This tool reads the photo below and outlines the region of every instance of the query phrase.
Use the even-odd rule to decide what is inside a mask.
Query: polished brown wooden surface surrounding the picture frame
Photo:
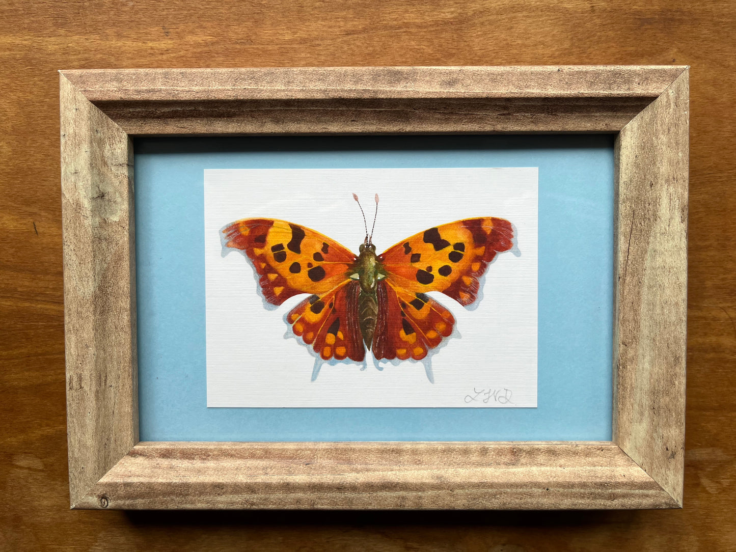
[[[1,550],[736,550],[736,2],[0,1]],[[72,512],[57,69],[689,64],[684,509]]]

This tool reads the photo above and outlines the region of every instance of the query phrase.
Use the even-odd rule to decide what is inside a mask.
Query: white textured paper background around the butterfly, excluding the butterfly
[[[378,363],[367,351],[364,363],[322,364],[284,319],[306,295],[265,308],[250,262],[222,247],[224,226],[261,217],[312,228],[357,255],[365,230],[353,192],[369,225],[381,198],[378,253],[460,219],[496,216],[514,227],[514,249],[489,265],[470,308],[429,294],[456,325],[424,361]],[[208,406],[537,406],[536,168],[206,170],[205,271]]]

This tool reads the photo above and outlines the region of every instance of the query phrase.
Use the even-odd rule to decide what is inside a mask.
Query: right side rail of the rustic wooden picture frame
[[[688,72],[623,127],[614,149],[614,442],[679,503],[687,329]]]

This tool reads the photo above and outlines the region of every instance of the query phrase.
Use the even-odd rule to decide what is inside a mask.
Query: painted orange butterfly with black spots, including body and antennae
[[[378,194],[375,201],[378,209]],[[504,219],[464,219],[376,255],[366,225],[357,256],[316,230],[277,219],[238,220],[222,235],[225,247],[250,258],[269,303],[311,294],[286,319],[317,355],[361,362],[366,348],[377,360],[425,358],[455,324],[450,311],[425,293],[442,291],[461,305],[473,303],[478,278],[497,253],[511,249],[514,231]]]

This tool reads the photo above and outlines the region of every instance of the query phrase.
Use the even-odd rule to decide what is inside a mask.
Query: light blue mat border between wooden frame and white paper
[[[539,167],[537,408],[207,408],[204,169],[453,166]],[[141,440],[611,439],[613,201],[610,135],[137,139]]]

